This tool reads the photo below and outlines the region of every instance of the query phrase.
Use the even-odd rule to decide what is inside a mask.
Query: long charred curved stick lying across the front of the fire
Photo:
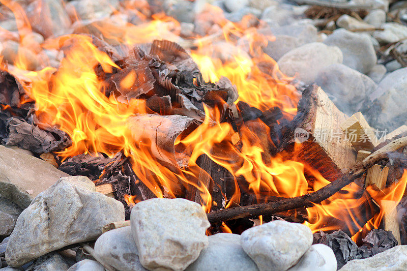
[[[386,160],[388,153],[394,152],[398,148],[407,146],[407,137],[396,139],[381,149],[376,150],[373,154],[366,157],[361,162],[357,163],[351,170],[343,174],[341,177],[327,186],[303,196],[287,198],[284,200],[268,203],[253,204],[244,207],[233,207],[218,210],[208,214],[208,220],[211,224],[221,223],[238,218],[251,218],[261,215],[272,215],[284,210],[295,209],[299,207],[311,207],[315,203],[319,203],[333,194],[341,190],[343,187],[352,183],[356,178],[360,177],[367,168],[375,163]]]

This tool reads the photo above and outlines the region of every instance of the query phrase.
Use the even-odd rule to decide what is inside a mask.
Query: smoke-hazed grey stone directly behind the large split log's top
[[[377,85],[369,78],[343,64],[333,64],[318,73],[315,83],[324,89],[335,105],[345,114],[359,111],[366,97]]]

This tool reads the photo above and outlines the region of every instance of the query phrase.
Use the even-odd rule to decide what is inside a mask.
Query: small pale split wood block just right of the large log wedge
[[[340,124],[340,128],[356,150],[372,150],[379,144],[374,129],[369,126],[361,112],[346,119]]]

